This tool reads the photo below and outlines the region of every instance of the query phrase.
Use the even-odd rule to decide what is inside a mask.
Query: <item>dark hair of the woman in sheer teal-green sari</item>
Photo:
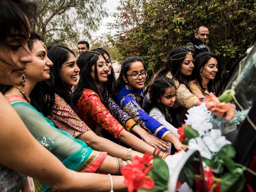
[[[30,50],[33,49],[36,40],[42,40],[42,37],[36,32],[32,32],[28,41],[28,48]],[[38,82],[30,92],[31,105],[44,114],[44,116],[50,114],[55,101],[51,72],[52,70],[50,70],[50,79]]]

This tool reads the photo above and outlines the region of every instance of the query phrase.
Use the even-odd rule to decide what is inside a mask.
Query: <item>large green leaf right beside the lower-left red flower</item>
[[[159,156],[154,156],[149,176],[154,180],[155,187],[150,190],[141,188],[139,192],[160,192],[168,189],[169,170],[167,164]]]

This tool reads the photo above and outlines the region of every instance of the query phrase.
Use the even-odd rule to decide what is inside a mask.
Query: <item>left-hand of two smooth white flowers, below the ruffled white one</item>
[[[210,150],[207,148],[201,137],[190,139],[188,142],[188,148],[191,150],[198,150],[201,156],[206,159],[212,158]]]

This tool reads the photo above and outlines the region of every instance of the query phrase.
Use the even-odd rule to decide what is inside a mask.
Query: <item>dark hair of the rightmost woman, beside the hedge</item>
[[[217,55],[212,54],[210,52],[202,52],[202,53],[198,54],[196,56],[196,58],[194,59],[194,69],[192,71],[192,78],[196,79],[198,81],[198,84],[200,85],[202,90],[206,90],[202,86],[202,77],[200,75],[200,72],[201,72],[201,70],[204,69],[204,66],[211,58],[215,58],[217,60],[218,72],[216,73],[214,80],[210,80],[208,82],[207,89],[209,92],[216,92],[216,84],[220,80],[221,73],[222,73],[222,61],[220,60],[220,58]]]

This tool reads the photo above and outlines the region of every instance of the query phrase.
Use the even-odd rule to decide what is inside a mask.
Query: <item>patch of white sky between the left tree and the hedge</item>
[[[94,39],[96,36],[100,36],[101,34],[110,32],[106,25],[108,22],[114,22],[114,18],[111,16],[111,14],[117,12],[116,8],[118,5],[119,0],[107,0],[106,3],[104,3],[103,6],[107,8],[109,16],[102,19],[102,24],[99,27],[98,31],[92,34],[92,39]],[[114,34],[114,31],[112,31],[111,34]]]

